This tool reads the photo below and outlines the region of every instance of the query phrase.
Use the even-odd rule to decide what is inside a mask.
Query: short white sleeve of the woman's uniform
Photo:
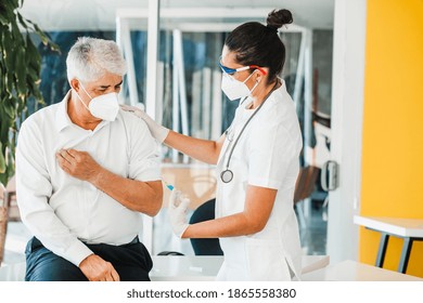
[[[297,142],[280,123],[268,123],[251,133],[248,184],[278,189],[293,161],[298,160]]]

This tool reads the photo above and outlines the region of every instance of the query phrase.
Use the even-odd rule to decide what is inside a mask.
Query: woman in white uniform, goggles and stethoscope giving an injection
[[[218,280],[291,280],[300,272],[293,196],[303,144],[294,103],[278,77],[285,61],[278,28],[292,21],[287,10],[272,11],[267,26],[245,23],[226,39],[221,89],[231,101],[241,100],[216,142],[170,131],[136,111],[158,141],[217,164],[216,219],[189,225],[189,200],[177,190],[169,216],[181,238],[220,238]]]

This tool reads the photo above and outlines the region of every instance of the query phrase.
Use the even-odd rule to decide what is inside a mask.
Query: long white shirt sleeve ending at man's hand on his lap
[[[16,148],[16,195],[28,229],[53,253],[76,266],[92,251],[73,235],[49,205],[52,195],[42,137],[34,121],[24,122]]]

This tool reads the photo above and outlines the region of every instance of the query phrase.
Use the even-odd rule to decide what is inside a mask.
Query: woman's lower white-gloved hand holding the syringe
[[[174,188],[169,198],[168,216],[174,234],[179,238],[182,238],[187,230],[187,211],[190,205],[190,199],[184,196],[180,190]]]

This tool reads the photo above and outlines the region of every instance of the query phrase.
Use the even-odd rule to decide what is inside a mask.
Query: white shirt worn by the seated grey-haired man
[[[130,242],[142,228],[142,216],[63,171],[56,152],[87,152],[103,168],[131,180],[156,181],[161,175],[158,146],[142,119],[119,110],[115,121],[103,120],[93,131],[85,130],[67,115],[69,96],[22,124],[16,192],[29,230],[46,248],[78,266],[92,253],[84,242]]]

